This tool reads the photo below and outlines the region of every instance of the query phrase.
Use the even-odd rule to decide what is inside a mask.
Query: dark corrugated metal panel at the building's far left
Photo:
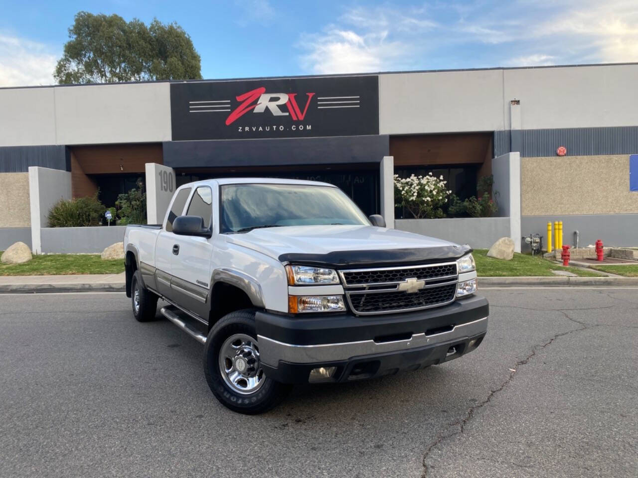
[[[24,173],[29,166],[71,171],[66,146],[10,146],[0,148],[0,173]]]

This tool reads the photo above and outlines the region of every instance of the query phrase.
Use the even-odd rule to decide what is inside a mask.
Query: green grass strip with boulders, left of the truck
[[[0,252],[1,254],[1,252]],[[103,261],[100,254],[47,254],[24,264],[0,263],[0,275],[117,274],[124,259]]]

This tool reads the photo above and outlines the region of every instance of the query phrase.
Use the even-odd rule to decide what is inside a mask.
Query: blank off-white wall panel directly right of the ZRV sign
[[[504,129],[503,71],[380,75],[379,116],[381,134]]]

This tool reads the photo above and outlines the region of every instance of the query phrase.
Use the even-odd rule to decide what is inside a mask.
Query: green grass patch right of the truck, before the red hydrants
[[[567,270],[581,277],[601,277],[602,274],[593,270],[582,270],[574,267],[563,267],[547,261],[539,256],[528,254],[514,254],[511,261],[501,261],[487,257],[487,249],[475,249],[474,259],[477,263],[477,275],[479,277],[557,277],[553,270]]]

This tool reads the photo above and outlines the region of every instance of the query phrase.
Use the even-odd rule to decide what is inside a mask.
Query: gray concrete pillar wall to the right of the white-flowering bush
[[[498,215],[510,218],[510,238],[521,252],[521,154],[503,154],[492,159],[493,191],[498,191]]]

